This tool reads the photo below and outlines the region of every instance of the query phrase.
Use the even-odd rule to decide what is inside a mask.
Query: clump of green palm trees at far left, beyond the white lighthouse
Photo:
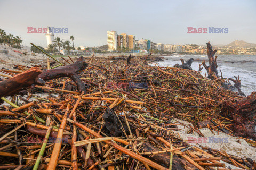
[[[0,29],[0,43],[2,45],[4,44],[13,48],[21,49],[20,44],[22,43],[22,40],[19,36],[14,37],[11,33],[7,35],[4,30]]]

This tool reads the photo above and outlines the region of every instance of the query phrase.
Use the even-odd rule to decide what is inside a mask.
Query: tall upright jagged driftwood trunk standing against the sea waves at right
[[[205,64],[205,61],[202,62],[204,68],[206,69],[207,73],[208,73],[208,77],[209,79],[218,79],[218,70],[217,70],[217,56],[214,55],[217,52],[217,49],[212,50],[212,46],[210,44],[210,42],[206,43],[207,44],[207,55],[208,55],[208,60],[209,60],[209,66],[207,66]]]

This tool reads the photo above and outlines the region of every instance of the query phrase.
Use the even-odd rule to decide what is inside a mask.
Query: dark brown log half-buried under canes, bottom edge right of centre
[[[160,149],[154,147],[150,143],[145,143],[145,148],[143,149],[143,152],[155,152],[155,151],[161,151]],[[170,165],[170,153],[161,153],[161,154],[153,154],[150,155],[149,159],[154,160],[158,164],[169,168]],[[194,165],[190,164],[189,162],[186,162],[185,160],[182,160],[176,155],[173,155],[172,160],[172,169],[197,169]]]

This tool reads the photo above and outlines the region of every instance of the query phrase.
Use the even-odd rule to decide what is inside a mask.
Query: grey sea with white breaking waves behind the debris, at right
[[[180,59],[183,58],[185,62],[190,58],[194,59],[191,67],[193,70],[199,69],[199,63],[205,61],[206,65],[208,63],[207,55],[172,55],[164,56],[163,62],[158,62],[159,66],[173,67],[175,64],[180,64]],[[238,77],[241,80],[241,90],[246,96],[250,95],[252,91],[256,91],[256,55],[219,55],[217,57],[218,64],[218,74],[223,78],[233,78]],[[203,65],[201,66],[203,67]],[[205,75],[206,70],[203,69],[201,74]],[[206,73],[207,76],[207,73]],[[231,84],[234,84],[230,81]]]

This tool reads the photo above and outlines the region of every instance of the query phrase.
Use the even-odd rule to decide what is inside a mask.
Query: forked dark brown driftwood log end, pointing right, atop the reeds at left
[[[73,80],[79,91],[84,91],[86,94],[86,87],[84,82],[78,77],[78,73],[86,69],[88,64],[84,61],[84,58],[81,56],[77,59],[77,61],[73,64],[66,65],[63,67],[59,67],[56,69],[45,70],[42,74],[39,75],[39,78],[44,81],[57,79],[61,77],[69,77]]]

